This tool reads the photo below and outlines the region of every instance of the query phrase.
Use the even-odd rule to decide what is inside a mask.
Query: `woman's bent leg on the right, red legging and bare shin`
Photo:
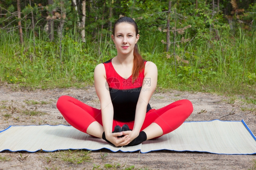
[[[177,129],[193,112],[189,100],[179,100],[157,110],[150,110],[145,118],[142,130],[147,139],[160,137]]]

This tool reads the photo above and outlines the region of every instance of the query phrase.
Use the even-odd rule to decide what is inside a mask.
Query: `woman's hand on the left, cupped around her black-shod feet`
[[[125,146],[127,144],[129,144],[129,140],[130,138],[128,137],[128,135],[125,135],[123,137],[119,137],[118,136],[122,136],[123,133],[122,132],[116,132],[116,133],[109,133],[109,134],[105,134],[106,135],[106,139],[111,142],[113,145],[115,145],[116,147],[118,146]]]

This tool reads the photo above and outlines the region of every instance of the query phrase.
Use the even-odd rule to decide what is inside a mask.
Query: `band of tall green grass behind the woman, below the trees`
[[[14,31],[1,35],[1,82],[34,88],[93,85],[94,67],[116,55],[108,34],[100,40],[86,35],[87,42],[82,43],[71,29],[62,39],[61,59],[59,40],[49,42],[44,33],[40,34],[35,47],[32,34],[23,45]],[[225,34],[219,40],[199,35],[186,45],[180,43],[177,55],[189,63],[178,61],[177,73],[173,49],[167,58],[166,45],[157,34],[141,36],[138,45],[143,58],[158,67],[158,90],[235,93],[255,98],[256,36],[254,31],[249,34],[240,30],[236,36]]]

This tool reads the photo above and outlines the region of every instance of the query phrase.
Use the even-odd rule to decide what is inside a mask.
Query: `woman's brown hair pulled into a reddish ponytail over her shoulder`
[[[119,23],[129,23],[132,24],[135,28],[136,31],[136,36],[139,34],[138,26],[136,22],[129,17],[121,17],[117,21],[115,21],[114,27],[113,27],[113,35],[115,35],[115,27]],[[132,82],[136,80],[137,77],[139,77],[140,72],[145,68],[144,65],[144,60],[141,57],[139,50],[138,50],[138,45],[135,44],[134,49],[133,49],[133,67],[132,67]]]

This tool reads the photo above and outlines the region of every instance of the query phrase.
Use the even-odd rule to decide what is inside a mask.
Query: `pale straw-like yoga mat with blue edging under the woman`
[[[102,148],[113,152],[173,150],[245,155],[256,153],[256,138],[243,120],[184,122],[169,134],[129,147],[115,147],[65,125],[10,126],[0,132],[0,152]]]

